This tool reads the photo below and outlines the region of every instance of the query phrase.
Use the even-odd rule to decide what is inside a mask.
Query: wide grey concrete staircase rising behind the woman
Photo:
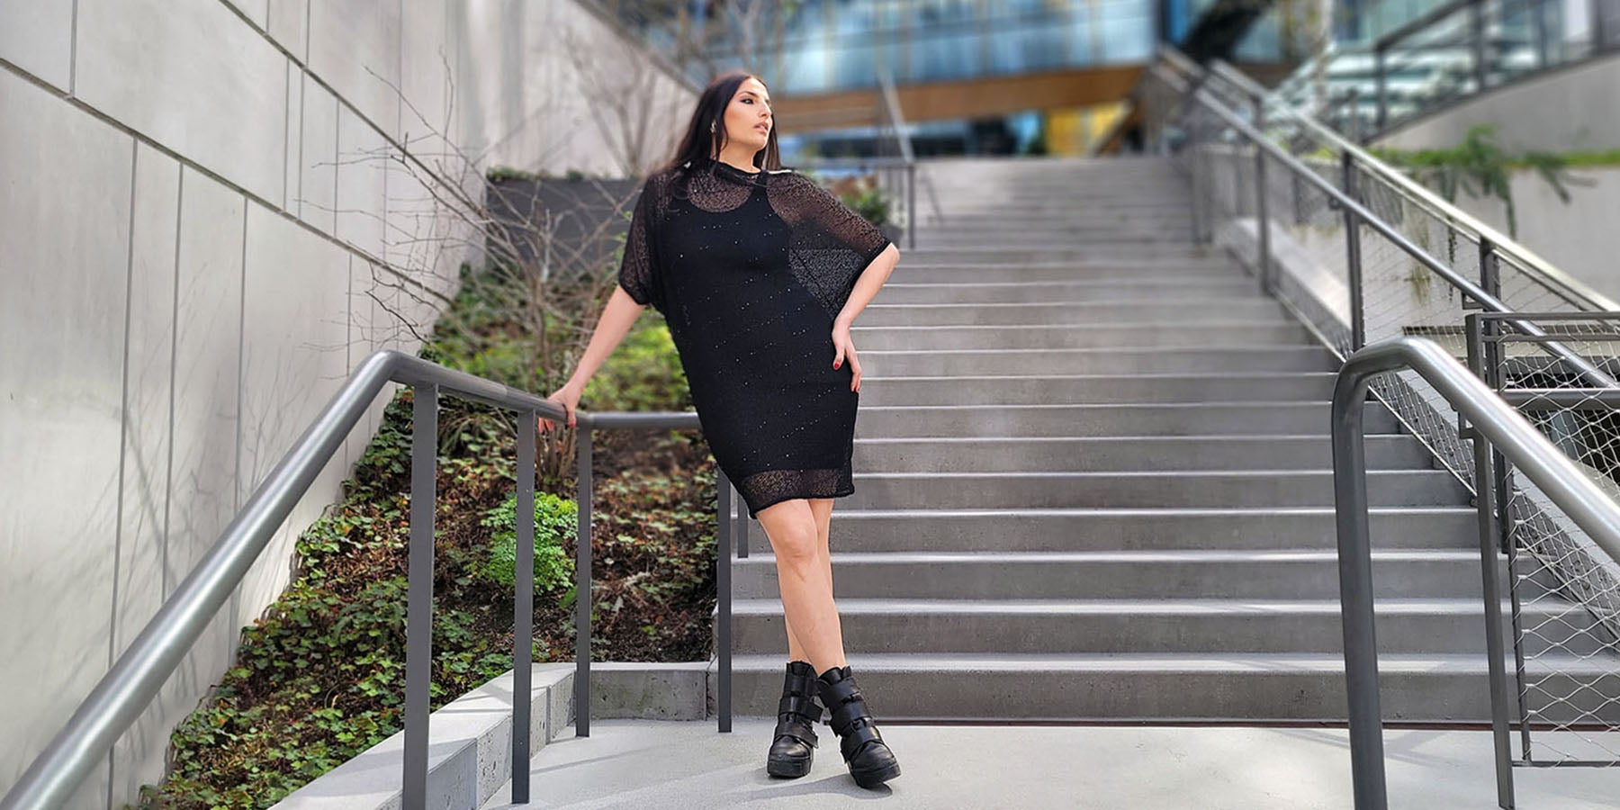
[[[1333,356],[1189,241],[1165,162],[925,172],[944,224],[854,329],[857,492],[831,526],[875,714],[1343,719]],[[1367,433],[1385,716],[1486,719],[1468,492],[1379,405]],[[734,711],[770,716],[787,648],[750,543]]]

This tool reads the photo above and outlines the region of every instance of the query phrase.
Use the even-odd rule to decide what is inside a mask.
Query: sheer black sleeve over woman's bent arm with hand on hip
[[[829,316],[891,240],[831,191],[797,172],[773,178],[771,206],[792,227],[787,262]]]

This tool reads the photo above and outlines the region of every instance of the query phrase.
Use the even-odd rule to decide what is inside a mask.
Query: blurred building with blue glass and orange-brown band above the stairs
[[[881,83],[919,156],[1092,151],[1157,47],[1243,18],[1225,55],[1275,76],[1309,47],[1317,0],[591,0],[705,83],[740,66],[773,89],[784,162],[878,154]],[[1231,8],[1228,8],[1231,6]]]

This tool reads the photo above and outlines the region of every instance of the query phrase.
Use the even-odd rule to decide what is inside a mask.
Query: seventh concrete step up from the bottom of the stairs
[[[1277,436],[1328,434],[1327,402],[1174,402],[1105,405],[872,405],[855,436]],[[1400,431],[1395,415],[1367,403],[1367,434]]]

